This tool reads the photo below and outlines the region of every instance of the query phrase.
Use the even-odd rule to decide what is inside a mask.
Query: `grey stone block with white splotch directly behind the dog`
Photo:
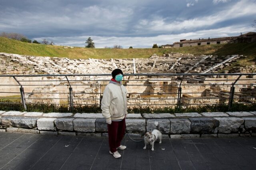
[[[146,123],[146,131],[157,129],[163,134],[170,134],[170,127],[171,122],[169,119],[150,119]]]

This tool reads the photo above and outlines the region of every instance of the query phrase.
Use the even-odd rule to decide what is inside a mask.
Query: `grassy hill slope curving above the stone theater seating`
[[[20,55],[35,55],[49,57],[67,57],[70,59],[110,59],[110,58],[148,58],[153,53],[162,55],[164,52],[192,53],[194,55],[246,55],[234,65],[254,65],[256,62],[256,43],[216,44],[181,48],[133,48],[133,49],[104,49],[104,48],[64,48],[58,45],[42,45],[20,42],[0,37],[0,52]]]

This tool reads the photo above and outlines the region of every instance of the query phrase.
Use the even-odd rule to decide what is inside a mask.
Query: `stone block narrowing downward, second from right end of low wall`
[[[244,123],[243,119],[236,117],[214,117],[214,119],[220,121],[219,133],[237,132],[238,128]]]

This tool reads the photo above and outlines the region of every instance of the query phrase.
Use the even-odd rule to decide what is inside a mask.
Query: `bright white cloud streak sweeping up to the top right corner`
[[[202,28],[204,26],[212,26],[219,22],[226,20],[250,16],[256,14],[256,4],[247,0],[237,2],[232,7],[224,9],[221,12],[212,14],[210,16],[203,16],[182,21],[169,21],[164,18],[153,18],[153,20],[144,20],[143,26],[136,26],[137,28],[144,28],[152,32],[169,32],[171,30],[191,30],[195,28]],[[145,25],[147,23],[147,25]]]

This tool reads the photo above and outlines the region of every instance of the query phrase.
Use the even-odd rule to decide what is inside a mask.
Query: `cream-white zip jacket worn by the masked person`
[[[110,80],[101,100],[102,115],[108,120],[124,119],[127,114],[127,90],[124,85]]]

